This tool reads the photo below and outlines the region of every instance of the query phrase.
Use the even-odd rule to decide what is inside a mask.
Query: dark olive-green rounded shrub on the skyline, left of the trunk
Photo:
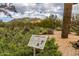
[[[57,27],[61,28],[61,23],[62,23],[61,20],[56,20],[56,19],[53,20],[48,18],[48,19],[42,20],[40,23],[37,24],[37,26],[56,29]]]

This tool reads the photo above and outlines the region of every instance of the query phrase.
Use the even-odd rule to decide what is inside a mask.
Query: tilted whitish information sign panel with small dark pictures
[[[32,35],[28,46],[38,49],[44,49],[47,38],[47,35]]]

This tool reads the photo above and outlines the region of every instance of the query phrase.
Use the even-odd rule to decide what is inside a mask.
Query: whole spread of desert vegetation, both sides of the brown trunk
[[[78,15],[72,17],[70,32],[75,32],[79,35]],[[35,19],[36,21],[39,19]],[[61,31],[62,20],[48,17],[40,22],[31,22],[29,18],[12,20],[10,22],[0,21],[0,55],[4,56],[31,56],[33,49],[28,47],[32,34],[38,35],[54,35],[54,30]],[[61,51],[58,51],[58,45],[55,38],[48,38],[45,49],[36,49],[37,56],[60,56]]]

